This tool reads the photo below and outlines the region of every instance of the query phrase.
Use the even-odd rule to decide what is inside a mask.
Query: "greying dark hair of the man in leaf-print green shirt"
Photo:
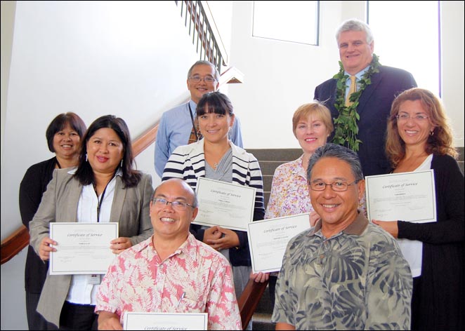
[[[360,164],[360,158],[358,158],[357,153],[347,147],[328,142],[327,144],[318,147],[312,156],[310,156],[307,168],[308,182],[310,182],[312,169],[320,158],[339,158],[339,160],[344,161],[351,166],[352,174],[356,181],[363,179],[362,165]]]

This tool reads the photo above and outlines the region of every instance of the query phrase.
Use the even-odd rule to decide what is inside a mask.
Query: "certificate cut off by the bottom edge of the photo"
[[[124,313],[124,330],[207,330],[207,313]]]

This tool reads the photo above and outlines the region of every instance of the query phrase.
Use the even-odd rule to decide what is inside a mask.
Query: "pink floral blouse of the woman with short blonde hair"
[[[302,158],[303,155],[276,168],[265,219],[313,211]]]

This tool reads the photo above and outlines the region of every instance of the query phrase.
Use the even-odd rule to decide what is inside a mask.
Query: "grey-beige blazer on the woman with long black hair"
[[[30,222],[30,244],[36,252],[49,236],[50,222],[77,222],[77,205],[82,185],[69,173],[70,169],[56,169],[42,197],[39,209]],[[110,222],[119,223],[119,236],[131,238],[136,245],[153,234],[149,204],[152,198],[152,177],[143,174],[136,187],[125,188],[116,176]],[[71,275],[47,275],[37,311],[48,322],[60,324],[60,313],[70,290]]]

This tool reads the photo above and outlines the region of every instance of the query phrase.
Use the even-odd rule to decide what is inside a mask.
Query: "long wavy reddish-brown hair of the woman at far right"
[[[410,88],[400,93],[391,106],[386,133],[386,155],[389,161],[391,161],[391,165],[395,168],[405,156],[405,142],[399,135],[396,116],[402,103],[414,100],[420,100],[421,106],[434,126],[433,134],[429,135],[426,141],[426,153],[436,155],[448,154],[457,158],[457,151],[452,146],[452,128],[445,114],[443,103],[429,90]]]

